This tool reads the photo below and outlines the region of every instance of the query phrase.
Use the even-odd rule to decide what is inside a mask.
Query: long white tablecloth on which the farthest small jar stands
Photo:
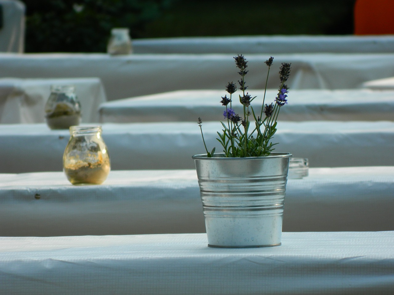
[[[238,52],[237,52],[238,53]],[[353,89],[365,81],[394,76],[394,53],[247,54],[247,84],[264,88],[267,65],[274,56],[268,87],[279,86],[279,66],[292,63],[291,89]],[[235,54],[88,53],[0,54],[0,77],[99,77],[108,100],[186,89],[223,89],[238,81]],[[59,70],[60,69],[60,70]]]

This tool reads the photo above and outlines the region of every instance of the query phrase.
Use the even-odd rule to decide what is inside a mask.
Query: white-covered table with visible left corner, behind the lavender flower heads
[[[249,90],[249,89],[248,89]],[[394,90],[394,87],[393,87]],[[249,90],[252,107],[260,113],[264,90]],[[108,101],[99,107],[100,122],[197,122],[223,120],[225,107],[220,103],[225,90],[178,90],[161,94]],[[237,90],[232,108],[242,114]],[[274,102],[278,90],[267,90],[265,103]],[[368,89],[291,90],[288,105],[281,108],[280,120],[394,121],[394,91],[382,94]]]

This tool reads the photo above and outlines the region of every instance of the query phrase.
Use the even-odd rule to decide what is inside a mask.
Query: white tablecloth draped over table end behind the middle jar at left
[[[74,85],[81,103],[82,122],[98,122],[98,108],[106,101],[99,78],[0,79],[0,124],[45,122],[50,86]]]

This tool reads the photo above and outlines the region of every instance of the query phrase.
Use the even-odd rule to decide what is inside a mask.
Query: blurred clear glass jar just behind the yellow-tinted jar
[[[50,129],[69,129],[81,122],[81,106],[71,85],[52,85],[45,104],[46,124]]]

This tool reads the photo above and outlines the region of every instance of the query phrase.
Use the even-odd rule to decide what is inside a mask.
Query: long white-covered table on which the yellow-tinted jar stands
[[[283,230],[394,230],[393,179],[394,166],[310,168],[288,179]],[[90,186],[0,174],[0,236],[193,232],[205,232],[195,170],[116,170]]]

